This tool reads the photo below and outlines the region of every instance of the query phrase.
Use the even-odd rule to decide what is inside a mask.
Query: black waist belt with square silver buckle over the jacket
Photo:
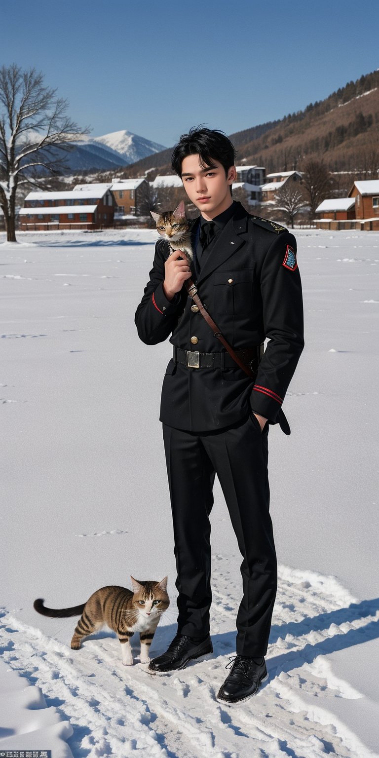
[[[252,368],[252,371],[258,371],[264,349],[265,345],[262,343],[262,345],[236,350],[236,354],[246,366]],[[196,352],[174,346],[172,359],[174,363],[181,363],[188,368],[239,368],[226,351]]]

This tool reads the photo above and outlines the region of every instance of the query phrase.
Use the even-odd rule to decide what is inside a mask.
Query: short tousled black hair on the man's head
[[[188,134],[182,134],[171,155],[171,168],[179,177],[182,175],[182,161],[187,155],[199,155],[202,168],[215,168],[214,161],[224,167],[225,176],[234,165],[236,150],[229,137],[219,129],[192,127]]]

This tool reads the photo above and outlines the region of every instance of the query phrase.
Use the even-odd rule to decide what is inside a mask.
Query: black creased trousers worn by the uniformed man
[[[243,556],[243,599],[236,618],[236,653],[267,652],[277,591],[277,559],[269,514],[268,424],[254,415],[210,434],[163,426],[171,509],[178,631],[200,637],[209,631],[211,606],[212,487],[218,475]]]

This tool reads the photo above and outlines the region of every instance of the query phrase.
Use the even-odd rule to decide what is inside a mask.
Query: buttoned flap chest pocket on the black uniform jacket
[[[252,309],[254,268],[218,271],[213,275],[213,312],[242,315]]]

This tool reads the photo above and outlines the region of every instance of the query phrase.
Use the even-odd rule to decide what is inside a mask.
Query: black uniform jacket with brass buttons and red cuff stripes
[[[199,297],[234,349],[268,345],[250,379],[236,368],[186,368],[168,364],[161,395],[161,421],[193,432],[217,431],[242,420],[253,409],[278,421],[304,346],[302,290],[296,240],[287,229],[249,215],[240,203],[218,236],[200,274],[193,280]],[[193,222],[193,246],[199,219]],[[174,301],[164,296],[164,262],[170,249],[155,245],[155,258],[136,327],[149,345],[170,342],[182,349],[222,352],[223,346],[202,315],[191,311],[185,287]],[[197,337],[197,343],[191,343]]]

